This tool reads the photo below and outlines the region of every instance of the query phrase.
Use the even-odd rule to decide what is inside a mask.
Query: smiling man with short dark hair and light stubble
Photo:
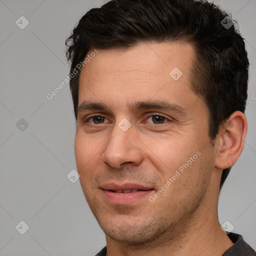
[[[217,215],[247,130],[248,59],[195,0],[111,0],[66,40],[75,158],[98,255],[256,255]]]

